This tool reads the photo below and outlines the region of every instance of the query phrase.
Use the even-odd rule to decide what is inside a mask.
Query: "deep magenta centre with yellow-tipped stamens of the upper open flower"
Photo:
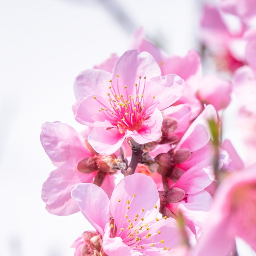
[[[119,75],[117,75],[117,78]],[[109,92],[107,93],[109,106],[105,106],[104,103],[101,103],[102,108],[99,109],[102,115],[106,116],[107,120],[110,120],[113,125],[115,125],[120,133],[126,132],[126,130],[141,130],[142,122],[148,119],[146,115],[146,105],[144,104],[144,91],[146,87],[146,76],[144,76],[144,83],[141,85],[141,76],[139,76],[138,83],[135,83],[136,94],[130,95],[127,90],[124,90],[124,93],[120,93],[119,88],[123,86],[124,89],[127,89],[127,85],[119,85],[117,79],[117,85],[113,86],[112,80],[110,80],[111,85],[108,87]],[[141,88],[143,87],[143,88]],[[117,90],[115,90],[117,88]],[[97,100],[97,97],[94,96],[94,99]],[[150,106],[153,105],[152,103]],[[148,107],[148,106],[147,106]]]

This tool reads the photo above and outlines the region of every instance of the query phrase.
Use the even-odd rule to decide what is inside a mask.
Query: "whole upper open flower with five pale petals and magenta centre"
[[[175,103],[183,88],[179,76],[161,76],[153,56],[129,50],[117,60],[112,74],[90,69],[76,78],[74,116],[94,127],[88,136],[92,147],[110,155],[129,137],[139,144],[159,139],[160,110]]]

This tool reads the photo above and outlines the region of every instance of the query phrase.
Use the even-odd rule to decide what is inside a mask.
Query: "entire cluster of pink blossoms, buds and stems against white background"
[[[241,23],[236,34],[225,12]],[[225,78],[204,76],[195,50],[168,56],[142,28],[122,56],[76,77],[72,109],[84,130],[47,122],[40,136],[56,166],[43,184],[47,211],[81,211],[95,229],[81,230],[75,256],[230,256],[236,237],[256,250],[254,18],[252,1],[205,6],[202,43]],[[221,136],[234,97],[244,160]]]

